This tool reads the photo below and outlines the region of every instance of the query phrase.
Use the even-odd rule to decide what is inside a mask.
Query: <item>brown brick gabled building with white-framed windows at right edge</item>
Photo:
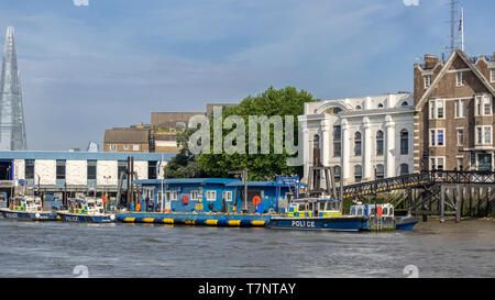
[[[415,171],[494,169],[494,60],[458,49],[415,65]]]

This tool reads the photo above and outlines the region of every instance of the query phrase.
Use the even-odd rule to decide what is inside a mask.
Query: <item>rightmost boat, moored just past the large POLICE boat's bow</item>
[[[366,222],[364,222],[362,229],[364,231],[410,231],[418,223],[418,219],[414,215],[397,219],[394,214],[394,207],[391,203],[363,204],[358,202],[355,205],[351,205],[350,215],[366,216]]]

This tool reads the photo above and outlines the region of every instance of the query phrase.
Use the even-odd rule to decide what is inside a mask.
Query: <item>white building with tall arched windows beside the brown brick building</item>
[[[413,93],[308,102],[298,120],[305,178],[318,156],[344,185],[413,173]]]

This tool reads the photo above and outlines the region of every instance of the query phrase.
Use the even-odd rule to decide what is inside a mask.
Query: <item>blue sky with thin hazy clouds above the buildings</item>
[[[465,51],[495,52],[493,0],[462,0]],[[449,0],[0,0],[14,26],[28,147],[102,146],[152,111],[238,103],[270,86],[318,99],[413,91],[449,44]]]

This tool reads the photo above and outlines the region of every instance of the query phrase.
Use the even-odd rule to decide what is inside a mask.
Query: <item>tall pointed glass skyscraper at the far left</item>
[[[0,151],[24,151],[24,110],[18,70],[13,27],[7,29],[0,78]]]

